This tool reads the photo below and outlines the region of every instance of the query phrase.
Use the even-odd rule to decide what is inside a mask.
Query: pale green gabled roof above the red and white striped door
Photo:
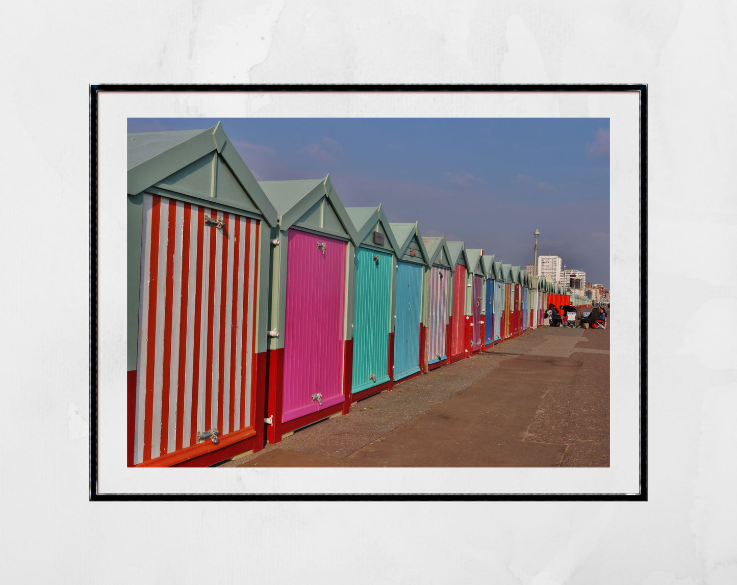
[[[213,153],[218,156],[213,157]],[[214,164],[217,167],[211,172]],[[217,181],[206,181],[212,176]],[[218,203],[248,211],[255,208],[269,225],[276,225],[276,209],[220,122],[207,130],[128,134],[128,195],[138,195],[157,185],[189,197],[214,198]]]

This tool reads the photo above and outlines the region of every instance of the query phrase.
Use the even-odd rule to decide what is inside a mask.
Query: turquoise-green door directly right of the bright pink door
[[[391,254],[368,248],[356,250],[352,393],[389,379],[393,264]]]

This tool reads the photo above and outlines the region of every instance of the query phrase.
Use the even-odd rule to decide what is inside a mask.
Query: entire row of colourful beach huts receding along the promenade
[[[128,134],[128,466],[208,466],[586,298],[464,242],[256,181],[218,124]]]

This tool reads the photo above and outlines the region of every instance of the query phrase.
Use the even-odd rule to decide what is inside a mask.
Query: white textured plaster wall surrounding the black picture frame
[[[737,301],[736,4],[38,0],[3,11],[7,581],[737,582],[735,344],[730,310],[724,323],[703,318]],[[648,83],[649,281],[693,271],[708,284],[692,316],[654,307],[649,502],[88,502],[88,84],[153,82]],[[176,115],[200,111],[177,101]],[[552,115],[596,101],[563,100]],[[125,225],[124,209],[121,198],[119,213],[101,213],[101,230]],[[99,253],[116,258],[102,238]],[[637,261],[613,253],[612,273]],[[125,314],[105,318],[113,329]],[[125,355],[107,341],[101,368]],[[626,367],[612,353],[612,373]],[[214,488],[242,482],[223,471],[211,470]],[[335,530],[338,547],[310,547]]]

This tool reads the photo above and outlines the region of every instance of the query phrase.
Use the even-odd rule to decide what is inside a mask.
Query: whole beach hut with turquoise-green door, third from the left
[[[357,233],[350,267],[354,304],[352,402],[391,388],[394,361],[394,277],[397,240],[382,206],[346,209]]]

